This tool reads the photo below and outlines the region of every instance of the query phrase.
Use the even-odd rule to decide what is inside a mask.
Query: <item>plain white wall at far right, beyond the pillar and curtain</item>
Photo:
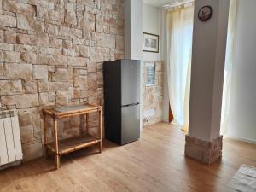
[[[256,1],[240,0],[228,136],[256,143]]]

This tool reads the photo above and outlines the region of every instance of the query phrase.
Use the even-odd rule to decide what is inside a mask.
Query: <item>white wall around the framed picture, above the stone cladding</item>
[[[143,32],[160,35],[160,28],[160,9],[144,3]],[[143,61],[160,61],[160,53],[143,52]]]

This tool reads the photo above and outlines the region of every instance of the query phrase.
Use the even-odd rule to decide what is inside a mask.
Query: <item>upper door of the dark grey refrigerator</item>
[[[140,63],[121,61],[121,105],[140,102]]]

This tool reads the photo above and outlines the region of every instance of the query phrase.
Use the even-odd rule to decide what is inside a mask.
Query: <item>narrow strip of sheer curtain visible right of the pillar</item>
[[[224,87],[221,109],[221,134],[225,134],[228,129],[230,115],[230,86],[232,77],[232,66],[234,57],[234,42],[236,36],[236,9],[237,0],[230,0],[229,26],[226,46],[226,58],[224,69]]]

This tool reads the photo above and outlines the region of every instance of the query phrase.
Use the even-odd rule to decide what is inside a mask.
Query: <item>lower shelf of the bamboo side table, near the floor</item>
[[[72,137],[61,140],[59,143],[59,153],[58,155],[67,154],[81,148],[86,148],[90,145],[101,143],[101,139],[93,137],[89,134],[79,137]],[[49,148],[53,153],[55,153],[55,143],[47,143],[46,148]]]

